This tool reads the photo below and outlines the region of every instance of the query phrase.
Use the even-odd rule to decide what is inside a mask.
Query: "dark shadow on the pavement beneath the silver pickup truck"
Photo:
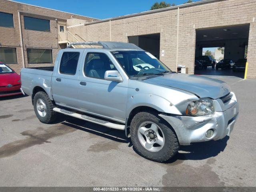
[[[130,143],[129,147],[132,146],[130,138],[127,138],[122,130],[110,129],[91,122],[78,120],[76,118],[68,118],[65,122],[62,122],[62,124],[116,142]],[[176,156],[166,163],[173,163],[176,160],[202,160],[217,156],[226,148],[228,139],[229,137],[226,136],[222,140],[210,140],[208,142],[192,143],[189,146],[180,146],[180,150]]]

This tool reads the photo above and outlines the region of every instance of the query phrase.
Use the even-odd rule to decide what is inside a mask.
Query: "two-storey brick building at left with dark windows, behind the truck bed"
[[[62,46],[58,32],[67,20],[77,24],[96,19],[0,0],[0,61],[18,73],[22,67],[53,65]]]

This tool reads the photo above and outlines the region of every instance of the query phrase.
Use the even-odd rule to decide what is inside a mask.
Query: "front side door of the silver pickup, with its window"
[[[118,70],[123,82],[104,79],[107,70]],[[110,52],[86,52],[84,65],[78,78],[79,108],[88,113],[124,122],[128,79]]]

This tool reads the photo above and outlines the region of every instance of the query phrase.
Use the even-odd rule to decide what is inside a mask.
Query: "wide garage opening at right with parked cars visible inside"
[[[250,24],[196,30],[197,75],[244,78]]]

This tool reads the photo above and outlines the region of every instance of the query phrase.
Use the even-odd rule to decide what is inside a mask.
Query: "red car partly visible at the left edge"
[[[0,97],[22,94],[20,75],[0,62]]]

